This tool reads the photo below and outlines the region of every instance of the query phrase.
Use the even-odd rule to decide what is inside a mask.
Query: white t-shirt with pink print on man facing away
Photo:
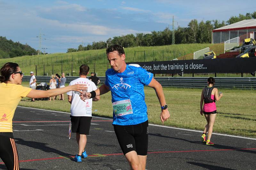
[[[86,86],[88,87],[87,92],[91,92],[97,89],[94,82],[87,78],[80,77],[76,80],[73,80],[69,83],[69,86],[74,84],[86,84]],[[84,102],[83,100],[81,100],[79,96],[80,93],[77,91],[69,91],[67,95],[72,96],[70,108],[71,116],[92,116],[92,99],[87,99]]]

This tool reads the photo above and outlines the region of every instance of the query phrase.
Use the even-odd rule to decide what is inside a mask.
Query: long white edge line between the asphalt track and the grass
[[[21,108],[26,108],[26,109],[35,109],[35,108],[30,108],[30,107],[22,107],[22,106],[18,106]],[[44,110],[44,109],[36,109],[36,110]],[[44,111],[53,111],[53,110],[44,110]],[[68,113],[68,112],[61,112],[61,111],[53,111],[53,112],[59,112],[59,113]],[[70,114],[70,113],[69,113]],[[93,116],[96,118],[101,118],[101,119],[108,119],[108,120],[113,120],[110,118],[105,118],[105,117],[97,117],[97,116]],[[175,127],[170,127],[170,126],[163,126],[163,125],[157,125],[157,124],[148,124],[151,126],[158,126],[158,127],[165,127],[165,128],[171,128],[171,129],[179,129],[179,130],[183,130],[183,131],[195,131],[195,132],[200,132],[202,133],[203,131],[197,131],[197,130],[191,130],[191,129],[182,129],[182,128],[175,128]],[[256,138],[248,138],[248,137],[242,137],[242,136],[235,136],[235,135],[227,135],[227,134],[221,134],[221,133],[212,133],[215,135],[221,135],[221,136],[228,136],[228,137],[234,137],[234,138],[244,138],[244,139],[252,139],[252,140],[256,140]]]

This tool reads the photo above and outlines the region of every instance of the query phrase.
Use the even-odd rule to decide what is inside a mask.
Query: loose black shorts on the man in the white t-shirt
[[[88,116],[70,116],[72,123],[72,132],[81,135],[89,135],[92,117]]]

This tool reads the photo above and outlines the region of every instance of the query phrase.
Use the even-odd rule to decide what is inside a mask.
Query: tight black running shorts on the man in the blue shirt
[[[148,120],[135,125],[113,124],[118,143],[124,155],[136,151],[138,155],[148,152]]]

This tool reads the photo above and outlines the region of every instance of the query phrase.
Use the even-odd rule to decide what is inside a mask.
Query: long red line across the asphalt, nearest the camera
[[[256,148],[241,148],[241,149],[212,149],[212,150],[191,150],[191,151],[159,151],[159,152],[148,152],[151,153],[179,153],[179,152],[209,152],[209,151],[237,151],[237,150],[256,150]],[[113,154],[102,154],[104,156],[111,156],[111,155],[123,155],[123,153],[113,153]],[[89,155],[91,157],[97,155]],[[71,156],[74,157],[74,156]],[[40,161],[40,160],[52,160],[52,159],[63,159],[65,157],[55,157],[55,158],[43,158],[43,159],[28,159],[28,160],[20,160],[20,162],[31,162],[31,161]],[[0,164],[4,164],[4,162],[0,162]]]

